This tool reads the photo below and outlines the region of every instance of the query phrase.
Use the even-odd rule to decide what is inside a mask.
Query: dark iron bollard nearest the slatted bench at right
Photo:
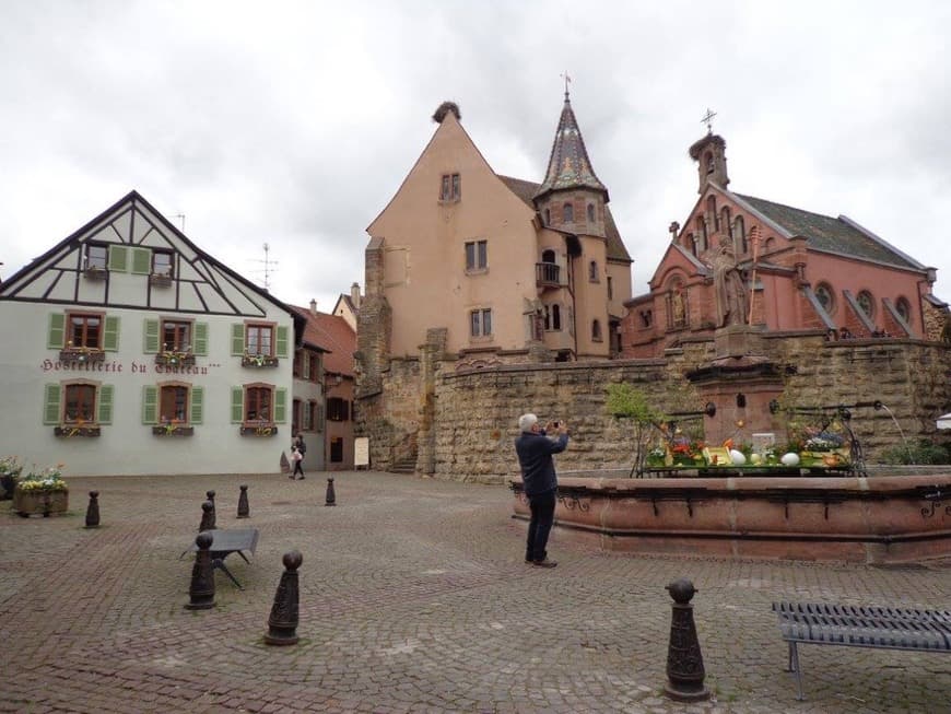
[[[673,598],[670,619],[670,645],[667,649],[667,686],[664,692],[679,702],[698,702],[709,699],[704,687],[703,654],[696,639],[691,598],[696,589],[686,578],[673,581],[665,588]]]

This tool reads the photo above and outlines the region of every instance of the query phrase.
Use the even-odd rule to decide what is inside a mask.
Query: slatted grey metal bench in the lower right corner
[[[802,670],[797,645],[842,645],[913,652],[951,652],[951,610],[773,602],[783,640],[789,643],[789,666],[799,701]]]

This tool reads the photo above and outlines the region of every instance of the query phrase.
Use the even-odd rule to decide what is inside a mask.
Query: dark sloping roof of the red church
[[[730,194],[731,191],[725,192]],[[782,203],[774,203],[762,198],[743,196],[741,194],[733,194],[733,196],[782,226],[789,234],[805,237],[809,241],[809,247],[814,250],[852,256],[899,268],[925,269],[914,258],[905,255],[844,215],[832,218],[790,206],[783,206]]]

